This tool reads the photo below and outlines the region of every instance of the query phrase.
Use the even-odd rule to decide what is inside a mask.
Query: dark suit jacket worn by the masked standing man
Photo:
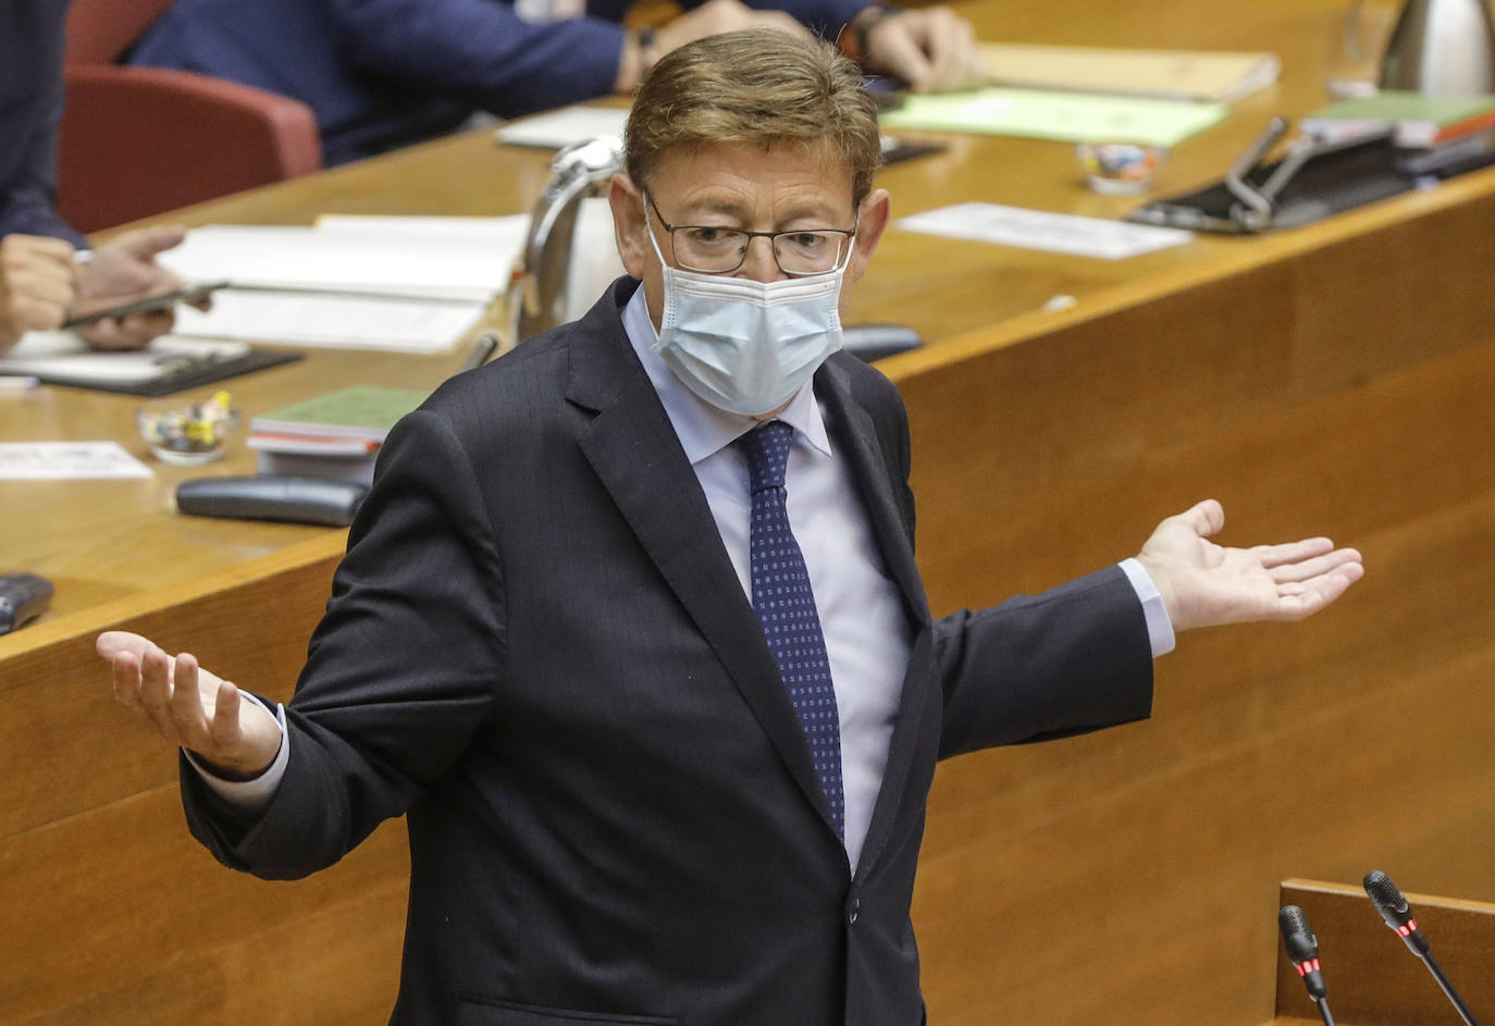
[[[931,622],[901,402],[828,360],[833,443],[916,631],[852,876],[622,331],[634,287],[390,434],[289,706],[287,776],[247,826],[184,776],[193,832],[283,878],[407,814],[396,1023],[916,1026],[909,903],[936,758],[1145,716],[1141,606],[1111,568]]]

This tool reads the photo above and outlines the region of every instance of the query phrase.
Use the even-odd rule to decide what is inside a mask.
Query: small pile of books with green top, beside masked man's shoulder
[[[260,474],[368,485],[384,435],[428,395],[372,384],[327,392],[251,417],[245,444],[257,452]]]

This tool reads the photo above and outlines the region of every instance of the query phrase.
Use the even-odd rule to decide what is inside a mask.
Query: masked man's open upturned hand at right
[[[1209,540],[1223,526],[1224,510],[1205,500],[1159,523],[1136,556],[1175,631],[1304,619],[1365,574],[1360,553],[1329,538],[1229,549]]]

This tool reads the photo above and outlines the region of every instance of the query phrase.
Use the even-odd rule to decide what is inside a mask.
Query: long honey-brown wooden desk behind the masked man
[[[1326,0],[973,7],[991,37],[1275,48],[1281,82],[1180,147],[1159,191],[1220,175],[1269,114],[1322,102]],[[184,211],[525,209],[543,154],[486,135]],[[896,208],[969,199],[1112,215],[1069,147],[952,139],[888,169]],[[1292,873],[1495,894],[1495,172],[1259,239],[1108,263],[890,230],[854,320],[933,345],[884,363],[909,405],[936,612],[1132,552],[1224,501],[1227,541],[1326,531],[1368,579],[1296,627],[1202,631],[1159,664],[1156,718],[942,767],[915,917],[940,1026],[1262,1023]],[[1078,299],[1045,314],[1052,295]],[[435,383],[447,357],[314,354],[247,404],[345,380]],[[0,402],[0,435],[133,440],[127,399]],[[253,407],[251,407],[253,410]],[[223,468],[248,467],[242,452]],[[0,1023],[377,1022],[392,1001],[402,826],[336,869],[260,884],[185,838],[175,769],[108,697],[99,630],[191,648],[286,695],[341,532],[187,520],[155,482],[0,486],[0,564],[64,586],[0,639]],[[15,896],[19,896],[15,897]],[[24,900],[22,900],[24,899]],[[226,930],[221,917],[238,917]],[[1195,966],[1180,987],[1171,966]],[[178,977],[191,987],[178,986]],[[274,981],[274,987],[266,986]]]

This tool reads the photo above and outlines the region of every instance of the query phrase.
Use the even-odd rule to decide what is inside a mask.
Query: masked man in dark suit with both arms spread
[[[280,722],[187,654],[99,649],[227,864],[299,876],[408,817],[393,1022],[916,1026],[936,761],[1139,719],[1175,628],[1305,616],[1359,555],[1221,549],[1202,503],[933,621],[903,407],[834,351],[890,209],[855,69],[692,43],[626,151],[631,277],[390,432]]]

